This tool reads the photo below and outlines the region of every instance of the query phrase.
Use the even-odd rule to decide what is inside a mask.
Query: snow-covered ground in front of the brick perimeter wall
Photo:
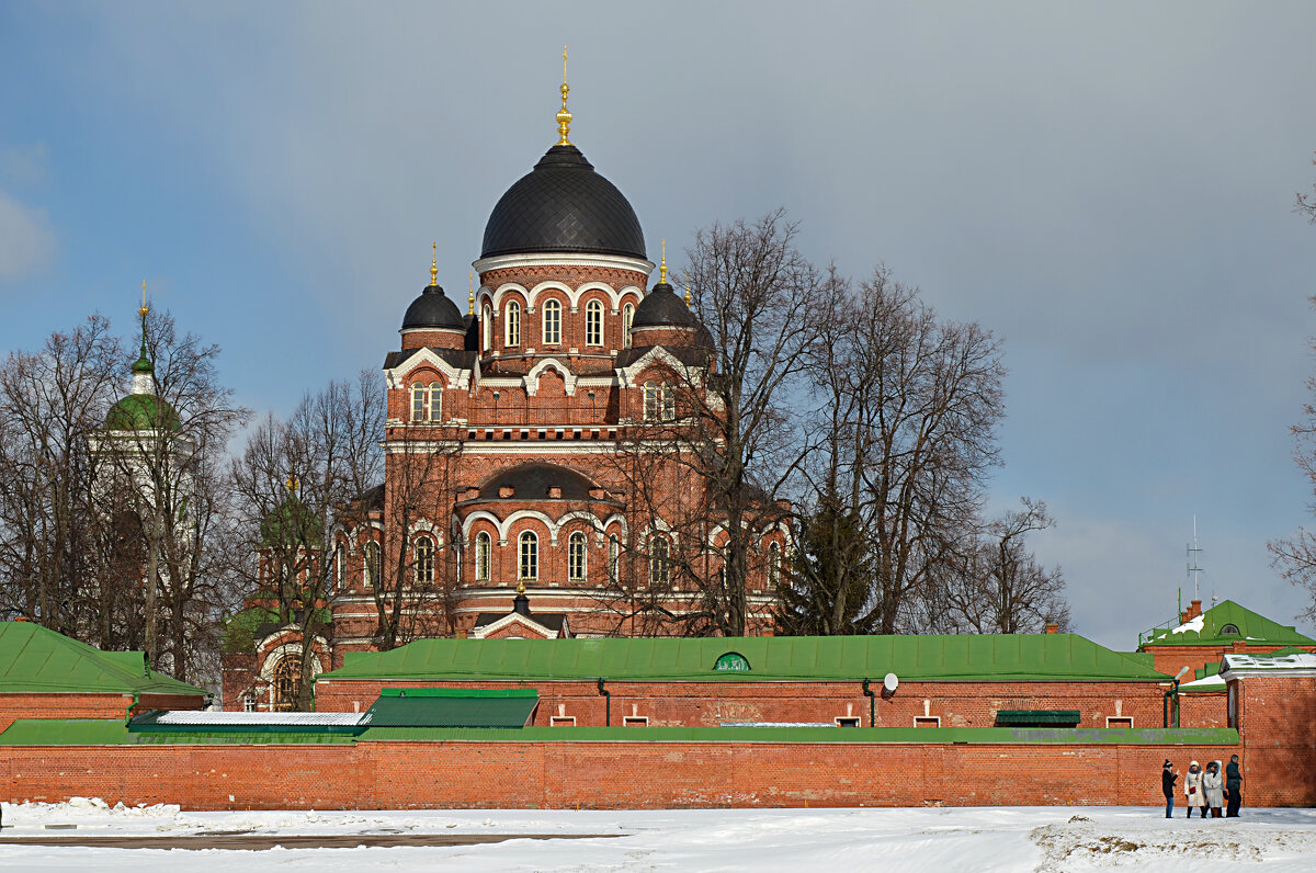
[[[9,837],[259,835],[569,835],[454,847],[267,851],[0,845],[3,870],[187,873],[313,870],[1138,870],[1316,869],[1316,810],[1245,808],[1186,820],[1178,808],[183,812],[103,802],[3,805]],[[55,827],[50,827],[55,826]],[[62,827],[61,827],[62,826]],[[68,828],[67,826],[76,826]]]

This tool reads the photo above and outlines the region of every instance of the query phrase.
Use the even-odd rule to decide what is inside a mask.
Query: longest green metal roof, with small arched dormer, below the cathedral
[[[717,670],[737,653],[747,672]],[[1074,633],[958,636],[417,640],[349,653],[317,681],[903,681],[1165,682],[1141,657]]]

